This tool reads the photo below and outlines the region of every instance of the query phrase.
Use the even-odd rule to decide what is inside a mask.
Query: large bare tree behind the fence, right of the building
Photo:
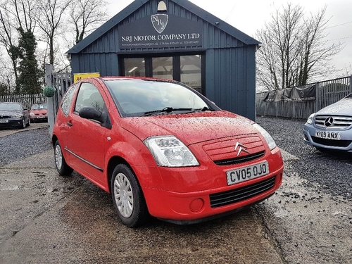
[[[258,86],[269,90],[301,86],[334,72],[329,61],[341,51],[341,44],[327,42],[325,11],[326,7],[305,18],[301,6],[287,4],[256,32],[263,43],[257,52]]]

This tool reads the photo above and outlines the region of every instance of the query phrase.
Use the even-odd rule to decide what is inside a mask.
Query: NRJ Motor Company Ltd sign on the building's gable
[[[119,48],[143,49],[202,46],[201,21],[157,13],[120,25]]]

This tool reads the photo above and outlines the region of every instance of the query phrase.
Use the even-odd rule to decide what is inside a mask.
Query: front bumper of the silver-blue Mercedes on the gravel
[[[339,139],[316,137],[317,132],[339,133]],[[320,149],[352,152],[352,129],[349,130],[324,130],[306,123],[303,126],[304,142]]]

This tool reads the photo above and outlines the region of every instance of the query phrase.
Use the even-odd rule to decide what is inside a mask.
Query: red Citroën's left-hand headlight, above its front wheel
[[[199,162],[193,153],[180,139],[174,136],[149,137],[144,140],[156,164],[163,167],[198,166]]]

